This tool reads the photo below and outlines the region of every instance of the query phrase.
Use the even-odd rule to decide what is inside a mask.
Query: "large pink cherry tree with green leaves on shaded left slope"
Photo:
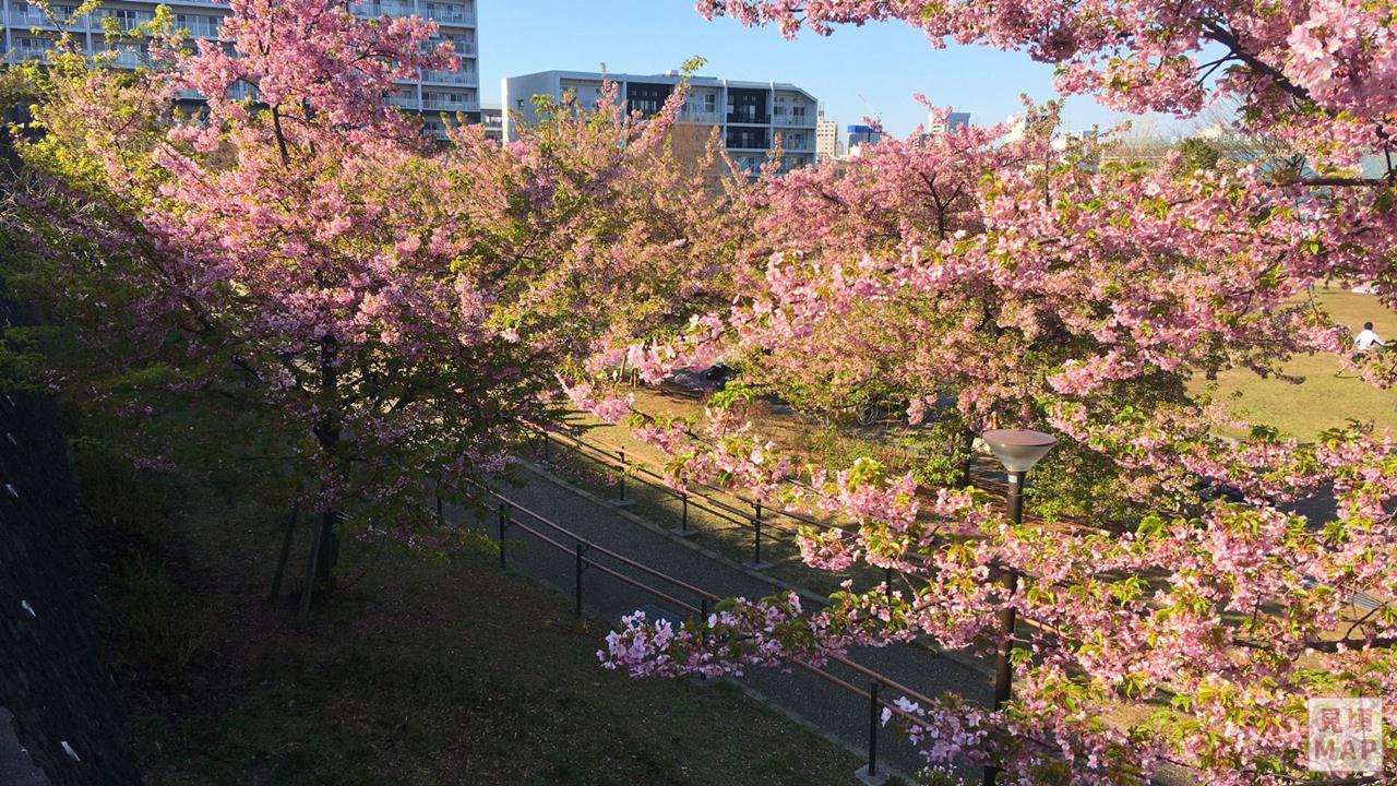
[[[746,185],[664,144],[682,95],[647,119],[610,90],[507,147],[465,124],[439,144],[387,101],[454,67],[432,24],[231,10],[231,48],[162,17],[136,73],[70,50],[31,69],[11,227],[41,250],[7,274],[78,327],[52,382],[122,418],[141,460],[182,463],[183,438],[300,490],[326,580],[337,531],[453,537],[426,501],[503,470],[559,368],[722,292]],[[193,428],[196,397],[226,420]]]

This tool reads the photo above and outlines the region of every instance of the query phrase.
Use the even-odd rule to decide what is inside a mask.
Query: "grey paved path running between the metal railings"
[[[521,476],[527,481],[525,485],[520,488],[500,487],[499,492],[520,508],[548,517],[580,538],[721,597],[757,599],[780,590],[771,580],[764,580],[740,565],[717,554],[704,552],[669,534],[665,527],[678,522],[652,522],[651,526],[647,526],[623,509],[529,464],[524,464]],[[571,551],[574,541],[531,520],[521,510],[514,510],[511,517],[553,537],[567,551],[550,547],[520,527],[511,527],[506,531],[509,565],[571,597],[576,580],[576,555]],[[467,517],[464,526],[496,537],[497,515],[472,515]],[[588,559],[595,559],[622,575],[659,589],[678,601],[700,606],[700,599],[694,594],[668,586],[659,579],[647,576],[605,555],[590,554]],[[671,620],[683,620],[692,615],[692,611],[686,611],[672,601],[657,599],[598,569],[584,571],[583,585],[584,613],[598,620],[616,622],[623,614],[630,614],[637,608],[647,610],[651,617],[658,613]],[[993,696],[990,677],[985,670],[921,648],[905,645],[882,649],[863,648],[851,652],[849,660],[930,698],[951,692],[988,706]],[[869,677],[837,663],[824,666],[824,670],[865,691],[872,683]],[[813,726],[826,737],[866,755],[870,709],[866,698],[856,696],[845,688],[798,667],[753,669],[736,681],[747,692],[756,694],[770,705]],[[884,702],[895,701],[898,695],[890,688],[882,691]],[[880,769],[891,766],[895,773],[907,778],[921,766],[919,755],[893,724],[879,730],[877,751]],[[967,771],[964,775],[971,776],[978,775],[978,772]]]

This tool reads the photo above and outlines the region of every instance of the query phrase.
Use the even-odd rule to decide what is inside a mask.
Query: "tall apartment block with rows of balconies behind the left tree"
[[[472,122],[479,120],[481,69],[476,55],[475,1],[367,0],[349,4],[355,14],[365,18],[416,14],[433,20],[439,28],[439,38],[448,41],[455,49],[461,60],[458,70],[420,71],[418,78],[398,83],[398,90],[390,98],[397,106],[427,115],[426,124],[436,130],[441,129],[440,115],[443,112],[462,112]],[[57,0],[52,10],[59,24],[82,41],[88,52],[105,49],[103,17],[112,17],[124,29],[131,29],[151,21],[156,6],[169,6],[175,13],[175,22],[187,29],[190,36],[218,41],[218,28],[224,17],[229,14],[226,4],[210,0],[161,0],[159,3],[154,0],[106,0],[96,14],[70,22],[68,15],[77,8],[77,0]],[[47,49],[53,48],[53,39],[59,32],[59,25],[25,0],[0,0],[0,25],[3,25],[3,36],[0,36],[3,52],[0,55],[3,55],[4,63],[42,57]],[[39,28],[38,32],[34,32],[34,28]],[[141,63],[142,57],[144,46],[131,46],[117,57],[117,64],[134,67]]]

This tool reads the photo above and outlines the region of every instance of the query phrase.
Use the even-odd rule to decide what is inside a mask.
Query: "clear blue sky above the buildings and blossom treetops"
[[[1052,67],[1027,56],[982,46],[932,49],[902,24],[840,28],[784,41],[773,28],[747,29],[732,20],[704,21],[692,0],[478,0],[481,98],[500,99],[500,78],[553,69],[652,74],[693,55],[705,76],[785,81],[803,87],[841,126],[880,117],[897,134],[926,119],[912,101],[923,92],[937,105],[993,123],[1020,109],[1020,94],[1052,98]],[[1090,98],[1067,103],[1071,130],[1112,124],[1123,116]],[[1137,127],[1140,123],[1137,123]],[[1154,127],[1173,127],[1160,120]]]

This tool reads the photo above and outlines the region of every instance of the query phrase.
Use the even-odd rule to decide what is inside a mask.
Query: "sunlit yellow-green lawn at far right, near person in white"
[[[1383,306],[1376,296],[1320,290],[1316,298],[1336,320],[1350,326],[1352,333],[1362,330],[1365,322],[1372,322],[1384,341],[1397,344],[1397,313]],[[1389,351],[1397,351],[1397,345]],[[1373,421],[1377,428],[1397,431],[1397,390],[1379,390],[1352,373],[1336,378],[1338,364],[1338,358],[1331,355],[1292,359],[1287,372],[1303,378],[1299,385],[1261,379],[1246,371],[1229,371],[1218,375],[1211,393],[1241,418],[1271,425],[1299,439],[1313,439],[1327,428],[1344,425],[1350,418]],[[1199,379],[1193,390],[1210,390],[1210,385]]]

